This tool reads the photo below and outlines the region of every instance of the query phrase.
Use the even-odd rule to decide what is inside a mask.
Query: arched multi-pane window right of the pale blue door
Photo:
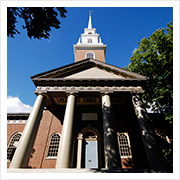
[[[118,144],[121,158],[131,158],[131,146],[129,136],[126,133],[118,134]]]

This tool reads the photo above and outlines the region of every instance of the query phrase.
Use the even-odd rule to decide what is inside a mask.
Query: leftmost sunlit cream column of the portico
[[[45,100],[45,95],[37,96],[9,168],[26,168],[28,166]]]

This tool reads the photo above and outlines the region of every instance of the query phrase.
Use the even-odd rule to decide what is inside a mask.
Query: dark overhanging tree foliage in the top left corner
[[[60,17],[66,17],[64,7],[8,7],[7,8],[7,36],[13,37],[20,34],[16,29],[17,18],[24,19],[23,29],[27,30],[27,36],[31,39],[48,39],[51,28],[60,28]]]

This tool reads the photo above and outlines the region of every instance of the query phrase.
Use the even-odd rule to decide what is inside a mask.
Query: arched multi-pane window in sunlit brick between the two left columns
[[[60,135],[58,133],[55,133],[51,136],[50,143],[49,143],[49,149],[47,156],[48,157],[56,157],[58,154],[59,149],[59,143],[60,143]]]

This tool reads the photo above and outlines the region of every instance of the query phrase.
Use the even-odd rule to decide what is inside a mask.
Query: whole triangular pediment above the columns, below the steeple
[[[146,76],[103,63],[94,59],[85,59],[62,66],[31,77],[32,80],[145,80]]]

